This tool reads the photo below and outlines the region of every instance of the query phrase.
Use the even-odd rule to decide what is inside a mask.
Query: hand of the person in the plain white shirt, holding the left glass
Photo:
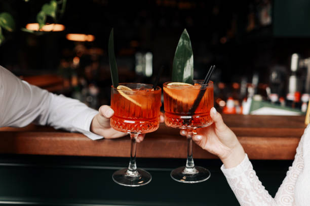
[[[90,131],[103,136],[106,139],[119,138],[128,135],[124,132],[114,130],[110,125],[110,119],[114,115],[114,111],[107,105],[103,105],[99,108],[99,113],[93,118]],[[164,122],[164,115],[161,113],[160,121]],[[141,142],[144,139],[145,134],[139,134],[136,139],[137,142]]]

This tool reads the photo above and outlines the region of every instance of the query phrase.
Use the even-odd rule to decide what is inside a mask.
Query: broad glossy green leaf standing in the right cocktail
[[[189,35],[184,29],[175,51],[172,81],[193,83],[193,55]]]

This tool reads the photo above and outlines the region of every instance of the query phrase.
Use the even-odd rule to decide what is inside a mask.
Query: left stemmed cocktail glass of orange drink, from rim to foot
[[[114,182],[124,186],[141,186],[151,181],[151,175],[136,166],[136,139],[139,134],[153,132],[159,127],[161,107],[160,87],[150,84],[120,83],[111,88],[111,108],[114,115],[110,120],[113,129],[130,134],[131,151],[129,167],[114,172]]]

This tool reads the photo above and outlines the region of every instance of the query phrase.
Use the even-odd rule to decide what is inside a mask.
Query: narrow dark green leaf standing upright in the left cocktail
[[[113,84],[114,88],[117,88],[119,85],[119,72],[118,72],[118,66],[117,66],[117,62],[115,60],[115,55],[114,55],[113,28],[110,32],[108,53],[109,53],[109,62],[110,62],[112,84]]]

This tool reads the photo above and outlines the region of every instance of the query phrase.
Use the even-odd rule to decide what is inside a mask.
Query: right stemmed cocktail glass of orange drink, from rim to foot
[[[166,82],[164,89],[165,124],[169,127],[187,130],[187,161],[185,167],[171,172],[172,179],[183,183],[202,182],[210,177],[210,171],[195,166],[192,157],[192,136],[197,128],[213,123],[210,109],[213,107],[213,82],[204,88],[202,80],[195,80],[195,85],[171,84]],[[170,85],[169,85],[170,83]],[[193,107],[200,92],[204,92],[198,107]],[[197,108],[195,110],[195,108]]]

